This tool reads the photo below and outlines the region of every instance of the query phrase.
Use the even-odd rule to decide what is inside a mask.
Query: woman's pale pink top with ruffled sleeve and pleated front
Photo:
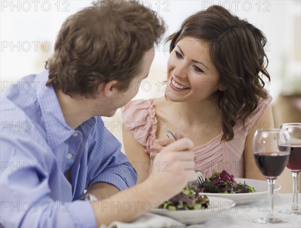
[[[200,170],[205,176],[211,176],[214,171],[225,169],[237,178],[244,177],[244,170],[251,170],[250,164],[244,162],[244,146],[248,132],[256,125],[260,128],[267,124],[259,120],[265,108],[270,104],[272,97],[260,99],[259,105],[246,119],[243,126],[238,122],[234,130],[234,138],[231,141],[221,141],[222,134],[210,141],[197,145],[195,153],[195,169]],[[155,143],[157,136],[157,118],[154,99],[133,100],[121,108],[123,123],[129,126],[129,131],[149,154],[150,147]]]

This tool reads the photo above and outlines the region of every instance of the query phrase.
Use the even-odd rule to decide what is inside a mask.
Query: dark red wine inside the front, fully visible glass
[[[270,179],[277,178],[285,168],[289,153],[286,152],[270,152],[254,154],[257,166],[260,172]]]

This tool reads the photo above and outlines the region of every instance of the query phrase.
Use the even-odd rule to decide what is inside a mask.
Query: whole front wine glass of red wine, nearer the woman
[[[258,129],[254,135],[253,154],[260,172],[267,179],[270,212],[268,216],[257,218],[258,223],[286,222],[274,216],[274,183],[285,168],[290,152],[290,137],[284,129]]]

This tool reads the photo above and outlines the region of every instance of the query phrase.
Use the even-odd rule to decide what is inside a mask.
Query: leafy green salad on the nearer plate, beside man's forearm
[[[207,208],[209,199],[206,195],[199,195],[200,189],[196,183],[186,186],[182,192],[168,201],[163,202],[158,208],[167,210],[194,210]]]

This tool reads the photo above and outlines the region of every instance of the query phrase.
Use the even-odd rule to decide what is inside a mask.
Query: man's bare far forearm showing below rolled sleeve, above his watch
[[[97,182],[93,184],[87,191],[87,194],[94,194],[98,199],[105,199],[119,192],[119,189],[112,184]]]

